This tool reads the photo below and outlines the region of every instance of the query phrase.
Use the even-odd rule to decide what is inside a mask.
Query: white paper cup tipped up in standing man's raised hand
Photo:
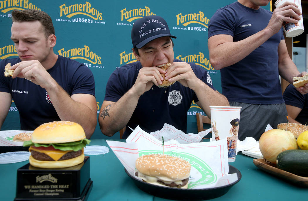
[[[275,2],[275,7],[277,8],[285,2],[295,3],[296,5],[298,5],[298,8],[302,13],[301,0],[277,0]],[[295,37],[295,36],[298,36],[298,35],[300,35],[304,32],[304,23],[303,23],[302,16],[301,16],[301,19],[298,20],[298,23],[293,24],[293,23],[289,23],[289,22],[282,22],[282,26],[283,26],[283,29],[286,33],[286,37]]]

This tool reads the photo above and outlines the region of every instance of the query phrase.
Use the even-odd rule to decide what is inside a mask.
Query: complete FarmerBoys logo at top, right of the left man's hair
[[[95,24],[105,24],[103,21],[103,13],[95,9],[90,2],[80,3],[80,4],[62,4],[60,8],[60,18],[65,16],[66,18],[56,19],[55,21],[64,22],[81,22],[81,23],[95,23]],[[86,18],[77,18],[75,15],[83,16]]]

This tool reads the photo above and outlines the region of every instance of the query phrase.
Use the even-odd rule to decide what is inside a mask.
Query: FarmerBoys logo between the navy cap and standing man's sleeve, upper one
[[[189,13],[189,14],[179,13],[176,15],[177,26],[173,27],[173,29],[206,31],[208,28],[208,24],[209,24],[209,18],[205,17],[202,11],[199,11],[199,13]]]

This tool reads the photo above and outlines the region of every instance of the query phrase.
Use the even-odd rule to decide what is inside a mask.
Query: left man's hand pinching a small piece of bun
[[[50,83],[54,81],[54,79],[38,60],[21,61],[13,65],[10,69],[15,70],[13,73],[13,78],[25,78],[32,81],[36,85],[40,85],[44,89],[51,87]]]

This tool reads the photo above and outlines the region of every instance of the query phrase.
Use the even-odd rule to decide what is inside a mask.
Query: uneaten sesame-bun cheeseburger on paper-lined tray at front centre
[[[175,156],[151,154],[136,160],[135,175],[159,186],[187,188],[191,165]]]

